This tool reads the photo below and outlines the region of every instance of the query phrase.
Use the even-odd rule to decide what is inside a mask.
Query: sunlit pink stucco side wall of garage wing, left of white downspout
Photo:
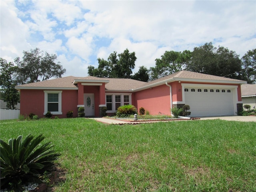
[[[149,88],[132,94],[133,105],[139,110],[143,107],[151,115],[170,115],[170,88],[166,85]]]

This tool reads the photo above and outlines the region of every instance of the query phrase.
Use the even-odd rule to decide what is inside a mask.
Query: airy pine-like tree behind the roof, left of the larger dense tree
[[[191,52],[166,51],[161,59],[156,59],[156,66],[150,68],[151,80],[181,71],[191,58]]]

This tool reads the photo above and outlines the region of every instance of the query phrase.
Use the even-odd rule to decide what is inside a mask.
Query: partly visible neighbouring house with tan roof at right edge
[[[251,106],[251,109],[256,108],[256,84],[241,85],[242,102]]]

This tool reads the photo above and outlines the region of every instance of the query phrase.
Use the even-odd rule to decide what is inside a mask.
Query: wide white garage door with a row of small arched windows
[[[234,115],[232,89],[184,88],[191,117]]]

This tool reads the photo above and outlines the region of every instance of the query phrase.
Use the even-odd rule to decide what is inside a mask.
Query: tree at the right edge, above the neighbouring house
[[[241,74],[246,78],[248,84],[256,82],[256,49],[249,50],[242,57]]]

